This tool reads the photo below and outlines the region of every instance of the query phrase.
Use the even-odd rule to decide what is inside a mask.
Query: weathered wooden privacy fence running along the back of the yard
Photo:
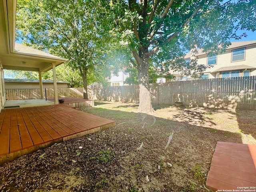
[[[153,104],[173,105],[176,101],[182,101],[187,106],[256,109],[255,76],[151,84],[150,92]],[[12,96],[13,93],[17,96]],[[32,99],[23,98],[25,93],[24,89],[6,90],[6,98]],[[32,89],[32,94],[28,95],[40,98],[39,89]],[[54,98],[54,90],[46,89],[46,96]],[[58,88],[58,97],[83,98],[83,88]],[[139,86],[88,86],[88,97],[94,100],[133,102],[139,99]]]

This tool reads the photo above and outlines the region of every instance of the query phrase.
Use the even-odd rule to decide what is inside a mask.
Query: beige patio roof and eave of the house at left
[[[0,0],[0,62],[3,69],[46,72],[68,59],[15,43],[16,0]]]

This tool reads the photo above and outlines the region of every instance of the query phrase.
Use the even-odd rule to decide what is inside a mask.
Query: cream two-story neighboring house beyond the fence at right
[[[208,56],[198,50],[198,64],[212,66],[207,68],[202,78],[228,78],[256,75],[256,40],[232,42],[226,52]],[[191,52],[185,60],[192,59]]]

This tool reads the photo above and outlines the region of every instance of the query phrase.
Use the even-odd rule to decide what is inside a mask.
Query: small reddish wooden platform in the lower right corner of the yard
[[[217,142],[206,187],[213,191],[256,190],[256,145]]]

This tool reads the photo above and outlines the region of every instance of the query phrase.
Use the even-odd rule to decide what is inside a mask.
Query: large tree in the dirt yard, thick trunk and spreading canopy
[[[102,1],[98,0],[98,3]],[[184,61],[184,52],[203,48],[208,54],[223,52],[237,30],[255,30],[255,0],[108,0],[106,19],[116,46],[130,51],[130,63],[138,70],[140,105],[150,113],[149,71],[178,70],[200,76],[205,65],[196,58]],[[102,12],[102,10],[100,10]],[[245,34],[242,34],[244,36]]]

